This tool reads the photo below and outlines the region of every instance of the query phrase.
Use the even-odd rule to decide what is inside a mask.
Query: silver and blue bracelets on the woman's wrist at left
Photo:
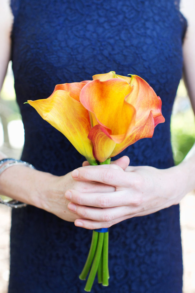
[[[2,166],[6,161],[12,161],[12,162]],[[23,166],[29,167],[31,169],[35,169],[34,166],[32,166],[30,163],[27,163],[27,162],[24,162],[21,160],[6,158],[6,159],[3,159],[0,161],[0,175],[7,168],[9,168],[11,166],[16,166],[16,165],[23,165]],[[11,207],[11,208],[18,208],[18,207],[26,207],[27,206],[26,203],[19,202],[18,200],[9,200],[9,201],[3,200],[1,198],[1,196],[0,196],[0,204],[7,205],[8,207]]]

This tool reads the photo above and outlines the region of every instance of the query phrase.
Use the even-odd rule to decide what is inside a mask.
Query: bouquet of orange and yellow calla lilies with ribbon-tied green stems
[[[161,99],[146,81],[114,71],[94,75],[93,80],[58,84],[49,98],[28,103],[90,165],[109,164],[111,157],[137,140],[152,137],[154,127],[165,121]],[[91,291],[96,273],[98,282],[108,286],[108,229],[93,231],[80,279],[85,280],[88,273],[85,291]]]

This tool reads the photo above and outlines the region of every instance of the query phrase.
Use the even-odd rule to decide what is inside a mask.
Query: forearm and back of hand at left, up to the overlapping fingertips
[[[23,165],[7,168],[0,174],[0,194],[44,209],[65,221],[74,222],[75,214],[67,208],[64,193],[69,178],[54,176]]]

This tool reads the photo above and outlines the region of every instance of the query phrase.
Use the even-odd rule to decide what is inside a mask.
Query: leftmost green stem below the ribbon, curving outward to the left
[[[93,231],[92,242],[91,242],[89,254],[88,254],[86,263],[84,265],[84,268],[83,268],[83,270],[82,270],[82,272],[81,272],[81,274],[79,276],[80,280],[85,280],[86,279],[87,274],[89,272],[89,269],[91,267],[91,264],[92,264],[92,261],[93,261],[93,258],[94,258],[94,254],[96,252],[96,247],[97,247],[97,242],[98,242],[98,234],[99,234],[98,232]]]

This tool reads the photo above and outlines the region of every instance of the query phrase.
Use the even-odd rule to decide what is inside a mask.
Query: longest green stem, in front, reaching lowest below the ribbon
[[[91,289],[92,289],[93,282],[94,282],[96,272],[97,272],[97,269],[98,269],[98,265],[99,265],[99,260],[100,260],[101,253],[102,253],[104,233],[98,232],[98,234],[99,234],[98,235],[98,243],[97,243],[96,253],[95,253],[95,256],[94,256],[94,261],[92,263],[92,267],[91,267],[91,270],[90,270],[90,273],[89,273],[89,277],[87,279],[87,283],[86,283],[85,288],[84,288],[84,290],[87,291],[87,292],[90,292]]]

